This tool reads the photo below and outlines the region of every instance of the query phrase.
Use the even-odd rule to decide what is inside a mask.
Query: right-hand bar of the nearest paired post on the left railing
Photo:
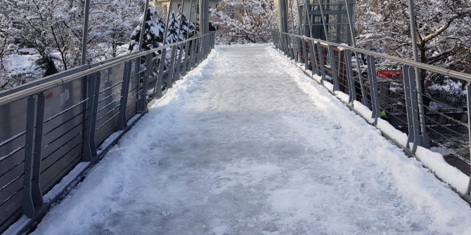
[[[42,154],[42,136],[44,127],[44,108],[46,97],[44,93],[37,95],[36,125],[34,130],[34,152],[33,152],[33,171],[32,171],[32,200],[34,208],[40,208],[44,205],[39,179],[41,177],[41,154]]]

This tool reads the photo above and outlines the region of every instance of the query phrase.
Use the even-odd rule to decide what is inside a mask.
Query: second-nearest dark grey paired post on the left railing
[[[82,161],[94,161],[96,158],[95,127],[98,111],[98,95],[100,93],[101,74],[96,72],[86,78],[88,80],[86,101],[86,119],[84,128],[84,143],[82,145]]]

